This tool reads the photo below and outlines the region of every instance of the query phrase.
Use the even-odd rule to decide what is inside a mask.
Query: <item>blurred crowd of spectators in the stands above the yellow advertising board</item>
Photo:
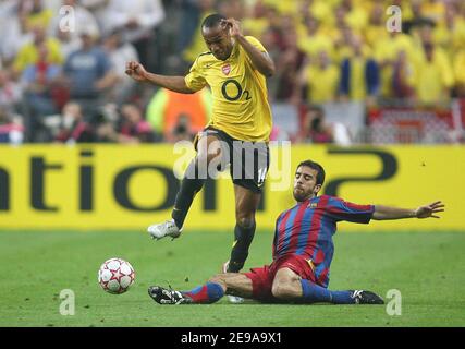
[[[295,142],[345,136],[326,123],[327,103],[465,97],[462,0],[0,0],[0,143],[192,140],[210,92],[136,84],[125,62],[184,75],[213,12],[240,20],[273,58],[270,101],[299,110],[299,132],[285,136]]]

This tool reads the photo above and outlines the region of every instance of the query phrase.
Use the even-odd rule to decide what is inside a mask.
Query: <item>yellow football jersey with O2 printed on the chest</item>
[[[255,37],[246,36],[246,39],[266,52]],[[236,140],[268,142],[272,120],[266,77],[254,68],[238,43],[225,61],[215,58],[211,52],[199,55],[185,82],[194,91],[210,86],[213,106],[208,125]]]

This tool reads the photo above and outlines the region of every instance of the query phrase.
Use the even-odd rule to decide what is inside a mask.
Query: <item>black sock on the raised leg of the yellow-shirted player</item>
[[[206,179],[201,179],[201,176],[199,176],[196,164],[197,163],[194,160],[187,167],[171,214],[171,217],[180,229],[184,225],[184,220],[195,195],[201,190],[206,181]],[[198,177],[200,177],[200,179],[198,179]]]

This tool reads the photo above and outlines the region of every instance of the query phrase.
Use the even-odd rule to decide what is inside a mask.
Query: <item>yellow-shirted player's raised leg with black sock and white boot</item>
[[[148,227],[148,232],[154,239],[164,237],[179,238],[184,225],[184,220],[191,208],[195,195],[201,190],[208,177],[208,165],[212,159],[221,156],[221,147],[218,139],[213,135],[200,137],[197,144],[198,154],[187,167],[181,182],[180,191],[174,201],[172,219],[162,224]]]

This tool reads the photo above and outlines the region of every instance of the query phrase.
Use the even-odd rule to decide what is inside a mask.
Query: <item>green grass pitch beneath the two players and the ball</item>
[[[272,234],[258,231],[246,268],[268,264]],[[283,305],[225,298],[210,305],[168,306],[149,285],[191,289],[220,270],[232,232],[188,231],[151,241],[144,232],[0,231],[0,326],[464,326],[465,233],[370,232],[334,237],[331,289],[397,289],[402,315],[386,305]],[[97,270],[107,258],[132,263],[129,292],[106,293]],[[75,294],[75,315],[60,315],[60,291]]]

